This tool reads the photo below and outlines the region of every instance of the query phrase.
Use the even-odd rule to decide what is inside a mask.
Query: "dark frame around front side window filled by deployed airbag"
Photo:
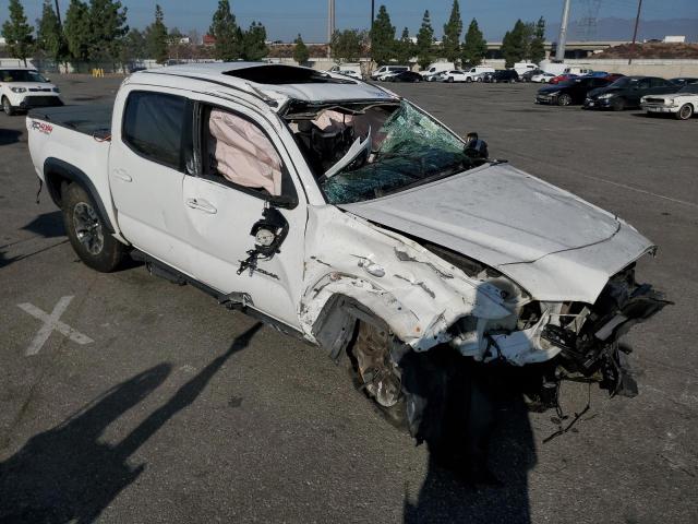
[[[286,162],[284,160],[284,156],[281,155],[281,153],[279,152],[279,148],[276,146],[276,144],[274,143],[274,140],[272,140],[272,136],[269,135],[269,133],[266,131],[266,129],[264,129],[264,127],[260,126],[260,122],[257,122],[256,120],[254,120],[253,118],[251,118],[248,115],[244,115],[240,111],[237,111],[234,109],[232,109],[229,106],[224,106],[221,104],[216,104],[216,103],[212,103],[212,102],[204,102],[204,100],[195,100],[193,103],[193,119],[192,119],[192,126],[191,126],[191,135],[192,135],[192,148],[194,152],[194,165],[195,165],[195,172],[191,174],[191,172],[185,172],[185,175],[188,176],[193,176],[196,178],[201,178],[202,180],[207,180],[208,182],[212,183],[217,183],[219,186],[224,186],[225,188],[228,189],[232,189],[232,190],[237,190],[240,191],[244,194],[249,194],[251,196],[255,196],[260,200],[263,200],[265,202],[268,202],[270,200],[274,200],[275,196],[288,196],[290,199],[292,199],[292,203],[290,205],[288,205],[288,209],[294,209],[298,206],[299,204],[299,198],[298,198],[298,190],[296,189],[296,183],[293,182],[293,177],[291,177],[291,174],[288,169],[288,167],[286,166]],[[269,144],[272,144],[272,147],[274,147],[274,151],[276,152],[277,156],[279,157],[279,160],[281,163],[281,193],[279,195],[274,195],[274,194],[268,194],[268,193],[264,193],[258,189],[254,189],[254,188],[249,188],[246,186],[241,186],[239,183],[236,182],[231,182],[230,180],[228,180],[227,178],[225,178],[222,175],[208,175],[204,172],[204,153],[206,152],[206,144],[204,143],[204,111],[205,109],[208,108],[209,110],[212,109],[219,109],[221,111],[226,111],[226,112],[230,112],[231,115],[234,115],[238,118],[241,118],[250,123],[252,123],[253,126],[255,126],[260,131],[262,131],[262,133],[264,133],[264,136],[269,141]]]

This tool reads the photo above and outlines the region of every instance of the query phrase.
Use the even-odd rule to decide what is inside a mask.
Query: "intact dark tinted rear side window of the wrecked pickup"
[[[123,115],[123,142],[149,160],[181,170],[185,107],[186,99],[180,96],[131,93]]]

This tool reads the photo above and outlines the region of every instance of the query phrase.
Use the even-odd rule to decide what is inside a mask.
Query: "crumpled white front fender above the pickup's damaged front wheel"
[[[299,319],[313,342],[318,318],[336,295],[362,305],[416,350],[448,342],[448,327],[462,317],[494,320],[512,314],[494,286],[332,205],[309,207],[305,238]]]

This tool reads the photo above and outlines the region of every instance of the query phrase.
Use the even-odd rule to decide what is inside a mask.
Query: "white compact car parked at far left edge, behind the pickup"
[[[63,105],[60,90],[31,68],[0,68],[0,102],[8,116],[33,107]]]

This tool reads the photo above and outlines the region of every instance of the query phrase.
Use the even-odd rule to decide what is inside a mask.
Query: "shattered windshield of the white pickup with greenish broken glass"
[[[297,130],[332,204],[376,199],[479,165],[458,136],[405,100],[326,109]]]

